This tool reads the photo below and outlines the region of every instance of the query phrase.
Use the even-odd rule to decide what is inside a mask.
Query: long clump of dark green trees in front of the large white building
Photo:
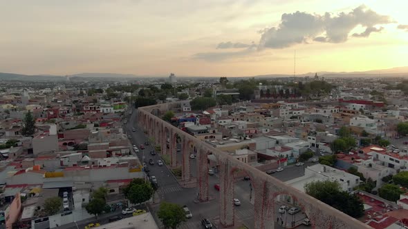
[[[364,206],[358,196],[340,190],[337,181],[312,181],[304,186],[305,192],[351,217],[364,215]]]

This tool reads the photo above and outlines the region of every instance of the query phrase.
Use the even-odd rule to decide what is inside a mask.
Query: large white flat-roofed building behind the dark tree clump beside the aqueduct
[[[355,186],[360,184],[360,177],[342,170],[337,170],[330,166],[317,164],[314,166],[308,166],[303,177],[286,181],[286,183],[293,186],[293,188],[304,192],[305,184],[312,181],[337,181],[340,183],[340,188],[342,188],[343,191],[351,192]]]

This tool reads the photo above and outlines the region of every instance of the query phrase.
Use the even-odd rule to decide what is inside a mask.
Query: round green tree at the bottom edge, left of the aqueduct
[[[163,222],[165,228],[176,229],[180,223],[186,221],[183,207],[176,203],[160,203],[157,216]]]

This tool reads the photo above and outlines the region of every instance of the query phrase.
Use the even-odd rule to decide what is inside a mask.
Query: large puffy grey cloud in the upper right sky
[[[308,41],[344,43],[349,39],[351,30],[359,25],[365,31],[355,33],[353,37],[369,37],[372,32],[383,29],[375,26],[388,23],[393,23],[389,16],[380,15],[366,6],[335,15],[328,12],[319,15],[299,11],[282,14],[279,26],[261,31],[259,49],[288,48]]]

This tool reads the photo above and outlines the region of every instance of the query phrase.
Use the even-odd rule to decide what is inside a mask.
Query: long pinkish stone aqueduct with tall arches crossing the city
[[[163,103],[155,106],[138,108],[138,125],[145,130],[149,137],[154,137],[156,144],[159,144],[163,154],[170,156],[171,165],[176,166],[176,136],[180,137],[182,144],[183,162],[182,179],[188,181],[190,177],[189,154],[191,147],[197,151],[197,188],[198,200],[209,200],[208,185],[208,163],[207,155],[214,155],[219,163],[220,179],[220,223],[224,228],[234,226],[234,170],[244,170],[251,178],[254,190],[254,228],[274,228],[277,215],[275,212],[275,197],[280,194],[290,195],[297,200],[297,203],[306,213],[313,228],[371,228],[366,224],[353,219],[348,215],[331,208],[331,206],[306,195],[299,190],[286,185],[286,183],[275,179],[265,172],[252,168],[247,164],[234,159],[230,155],[212,147],[210,144],[196,139],[170,123],[163,121],[156,116],[167,110],[177,109],[180,103]],[[156,115],[153,115],[156,113]],[[170,147],[167,149],[167,139],[170,140]]]

